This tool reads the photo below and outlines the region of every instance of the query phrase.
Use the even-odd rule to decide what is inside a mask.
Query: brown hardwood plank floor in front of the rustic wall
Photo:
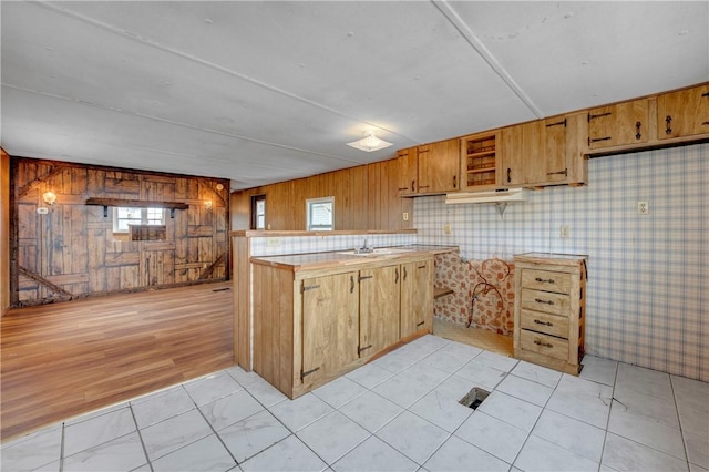
[[[234,365],[232,283],[13,309],[0,439]]]

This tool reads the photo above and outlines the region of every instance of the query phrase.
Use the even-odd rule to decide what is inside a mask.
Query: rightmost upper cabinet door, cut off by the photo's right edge
[[[657,98],[657,137],[709,133],[709,84]]]

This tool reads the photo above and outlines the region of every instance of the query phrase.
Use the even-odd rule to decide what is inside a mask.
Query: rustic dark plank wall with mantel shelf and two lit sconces
[[[227,179],[23,157],[10,163],[12,306],[228,279]],[[42,201],[47,191],[56,194],[54,205]],[[174,218],[166,212],[165,240],[133,242],[113,233],[112,208],[104,216],[104,207],[85,205],[90,197],[189,207]]]

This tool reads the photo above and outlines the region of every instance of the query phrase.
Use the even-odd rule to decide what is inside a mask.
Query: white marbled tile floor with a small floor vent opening
[[[425,336],[288,400],[238,367],[2,444],[3,471],[707,471],[709,383]],[[473,411],[472,387],[492,393]]]

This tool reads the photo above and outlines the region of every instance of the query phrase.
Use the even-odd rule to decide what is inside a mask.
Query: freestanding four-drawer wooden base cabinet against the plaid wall
[[[514,257],[514,357],[577,376],[584,357],[586,257]]]

